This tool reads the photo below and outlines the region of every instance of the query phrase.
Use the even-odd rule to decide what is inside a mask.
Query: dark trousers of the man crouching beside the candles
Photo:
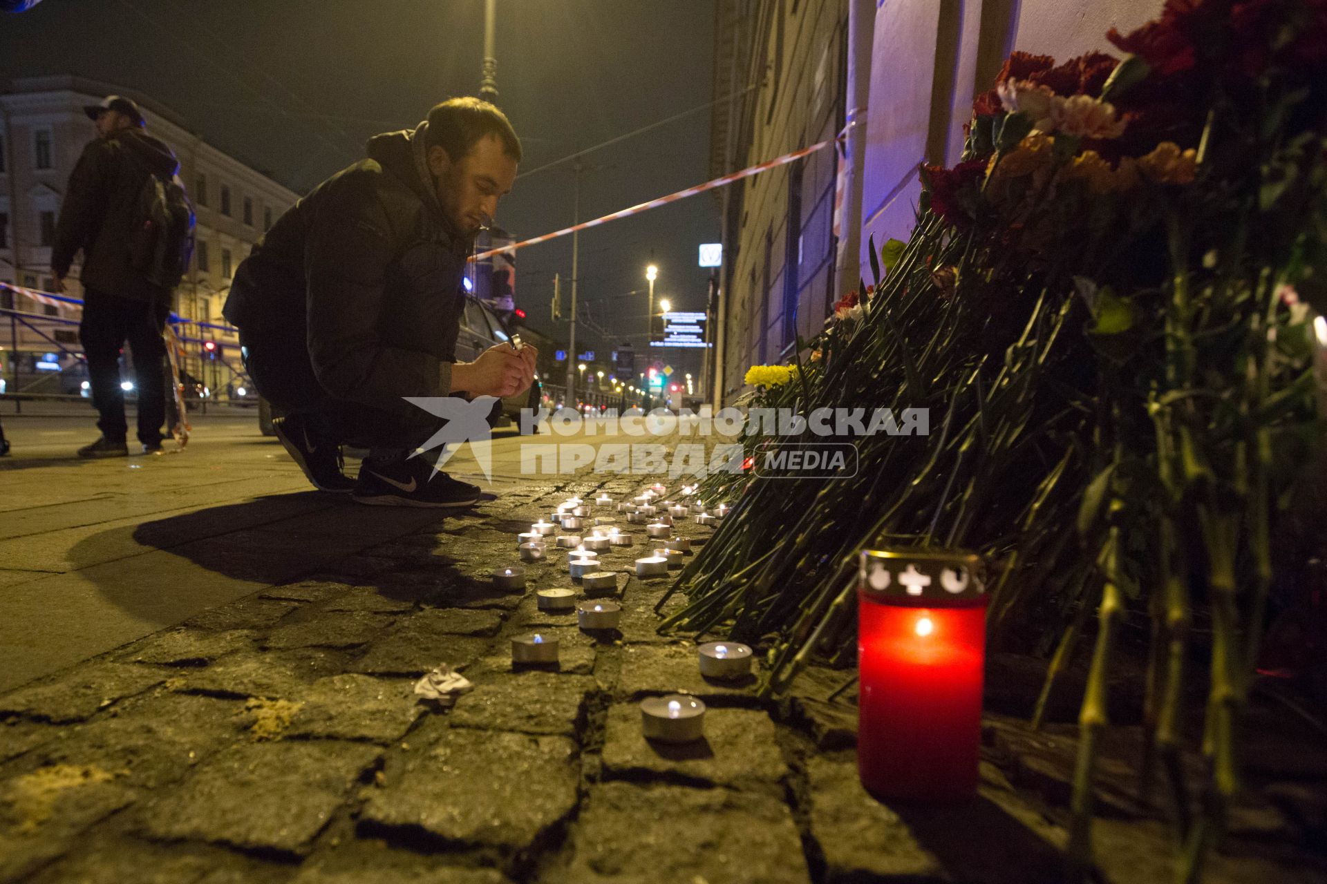
[[[303,334],[288,341],[264,339],[240,329],[240,354],[249,379],[272,410],[280,415],[300,415],[322,439],[333,444],[354,445],[378,452],[414,451],[447,421],[422,408],[372,408],[362,403],[332,396],[313,372],[313,363],[303,346]],[[488,423],[500,414],[495,404]]]

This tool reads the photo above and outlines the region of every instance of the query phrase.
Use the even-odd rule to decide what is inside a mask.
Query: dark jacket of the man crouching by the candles
[[[240,264],[224,314],[268,347],[305,350],[333,399],[386,411],[446,396],[470,241],[446,221],[425,125],[376,135],[272,225]]]

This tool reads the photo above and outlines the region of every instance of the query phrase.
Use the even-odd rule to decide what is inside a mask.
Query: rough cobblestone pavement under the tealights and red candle
[[[621,524],[636,546],[601,557],[624,571],[614,634],[537,610],[536,590],[573,586],[559,555],[525,566],[524,591],[492,587],[491,570],[518,559],[515,535],[556,504],[641,485],[508,484],[313,573],[251,571],[256,591],[0,694],[0,881],[1060,880],[1067,725],[1034,734],[993,714],[978,799],[885,807],[857,782],[853,706],[829,700],[852,673],[811,671],[774,705],[702,679],[694,643],[656,628],[670,578],[625,573],[648,543],[641,526]],[[305,562],[326,545],[320,525],[338,542],[350,508],[253,542]],[[710,531],[678,524],[697,545]],[[220,558],[248,549],[223,543]],[[212,546],[173,550],[220,567]],[[511,637],[532,631],[559,637],[557,671],[512,669]],[[450,712],[411,692],[441,663],[475,684]],[[998,685],[1026,680],[997,665]],[[674,691],[710,706],[701,744],[642,738],[638,701]],[[1112,733],[1103,877],[1169,880],[1166,830],[1128,785],[1135,730]],[[1278,769],[1263,773],[1281,791],[1239,808],[1213,880],[1327,880],[1304,848],[1327,826],[1327,751],[1270,738],[1283,744],[1265,746]]]

